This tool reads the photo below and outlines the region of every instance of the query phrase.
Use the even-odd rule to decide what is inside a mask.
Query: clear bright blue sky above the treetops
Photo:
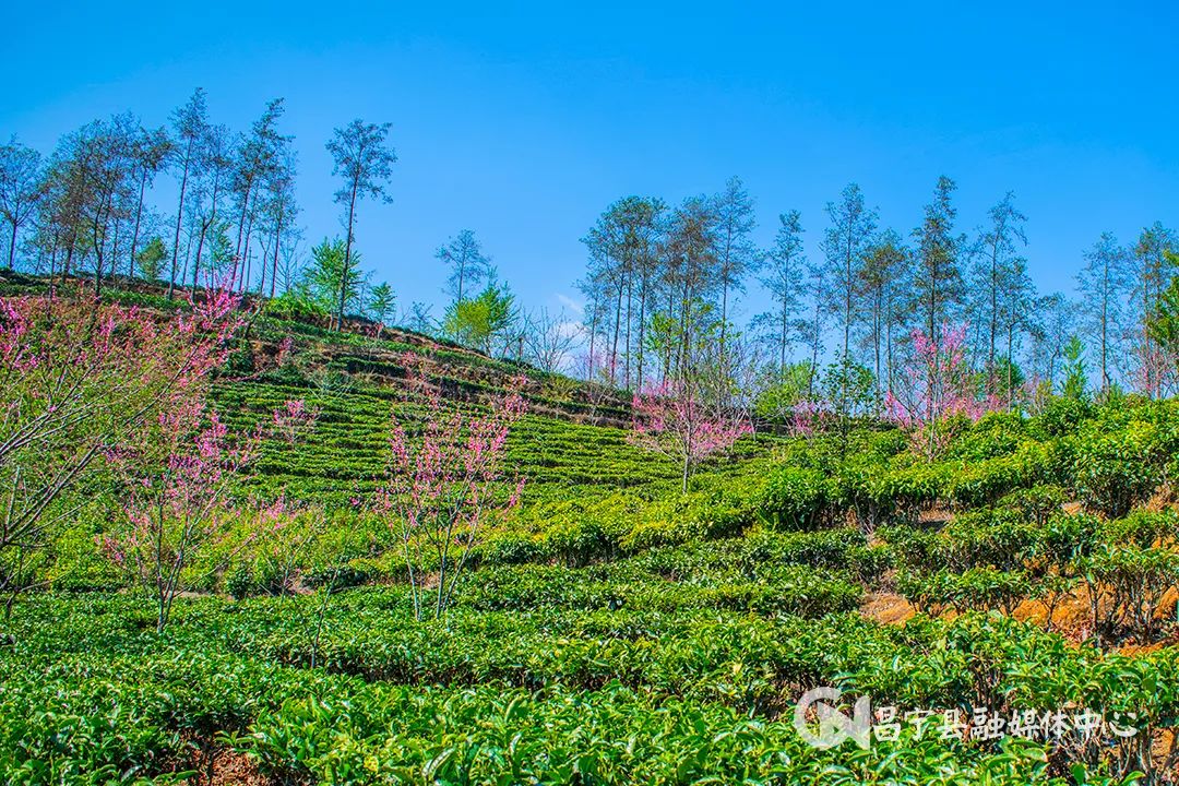
[[[437,300],[437,245],[474,229],[531,305],[574,296],[578,238],[631,194],[739,174],[758,239],[858,181],[908,233],[936,177],[973,230],[1006,191],[1046,290],[1104,230],[1179,224],[1179,4],[13,4],[0,136],[48,152],[86,120],[160,124],[197,86],[243,130],[284,97],[309,240],[338,232],[323,143],[393,124],[391,205],[357,242],[402,300]],[[166,186],[165,186],[166,189]],[[758,310],[751,296],[747,312]]]

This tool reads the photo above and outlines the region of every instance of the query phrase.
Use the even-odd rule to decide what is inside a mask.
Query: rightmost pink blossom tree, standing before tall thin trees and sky
[[[994,397],[977,395],[966,362],[966,326],[943,326],[937,342],[921,330],[913,331],[913,363],[904,394],[890,390],[884,398],[885,417],[913,434],[914,448],[936,458],[954,436],[954,421],[977,421],[997,409]]]

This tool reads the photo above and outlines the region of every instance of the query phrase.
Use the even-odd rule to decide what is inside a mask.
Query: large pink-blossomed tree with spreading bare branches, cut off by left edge
[[[237,305],[225,288],[171,316],[86,292],[0,298],[0,562],[68,519],[59,502],[97,458],[203,395]]]

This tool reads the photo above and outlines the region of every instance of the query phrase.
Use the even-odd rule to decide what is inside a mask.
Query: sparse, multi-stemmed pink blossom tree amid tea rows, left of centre
[[[443,401],[427,378],[420,356],[407,352],[408,402],[393,414],[389,463],[376,496],[409,572],[414,614],[422,619],[423,566],[437,562],[433,615],[450,605],[473,548],[489,521],[515,507],[523,480],[502,471],[508,434],[525,411],[523,377],[509,381],[487,411],[474,412]],[[411,423],[406,416],[414,415]]]

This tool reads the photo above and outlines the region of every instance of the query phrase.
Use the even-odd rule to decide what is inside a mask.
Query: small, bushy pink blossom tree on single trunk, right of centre
[[[634,444],[674,460],[683,468],[683,490],[705,458],[729,450],[752,431],[736,408],[710,405],[691,381],[665,381],[635,394],[632,402]]]

